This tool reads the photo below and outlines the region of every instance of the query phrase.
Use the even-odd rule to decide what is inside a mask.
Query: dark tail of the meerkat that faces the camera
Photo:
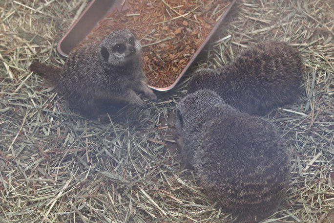
[[[61,72],[60,68],[45,65],[40,62],[33,62],[29,69],[42,76],[44,81],[50,85],[50,87],[57,86],[59,82],[59,73]]]

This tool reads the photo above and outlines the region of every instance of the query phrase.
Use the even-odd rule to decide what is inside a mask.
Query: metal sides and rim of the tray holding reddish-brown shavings
[[[97,23],[102,20],[109,12],[113,12],[115,9],[119,11],[122,10],[122,2],[124,0],[92,0],[89,5],[85,8],[80,17],[73,23],[73,25],[69,28],[63,38],[57,45],[58,52],[64,56],[68,57],[69,52],[78,45],[82,40],[84,40],[87,35],[93,30],[93,28],[97,25]],[[173,84],[166,88],[158,88],[155,86],[150,86],[150,88],[158,90],[158,91],[166,91],[172,89],[181,79],[181,77],[185,74],[187,69],[196,59],[200,51],[203,47],[208,43],[209,39],[212,37],[213,33],[217,30],[219,25],[223,22],[227,14],[229,13],[231,7],[233,6],[236,0],[232,0],[229,7],[226,9],[224,14],[220,17],[218,22],[213,26],[209,35],[205,38],[203,43],[198,47],[195,53],[190,58],[187,66],[181,71],[177,79]],[[123,7],[124,9],[124,7]]]

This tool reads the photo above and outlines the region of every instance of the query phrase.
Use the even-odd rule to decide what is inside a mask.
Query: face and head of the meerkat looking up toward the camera
[[[100,58],[113,66],[123,66],[141,54],[142,45],[128,29],[116,30],[107,35],[99,47]]]

